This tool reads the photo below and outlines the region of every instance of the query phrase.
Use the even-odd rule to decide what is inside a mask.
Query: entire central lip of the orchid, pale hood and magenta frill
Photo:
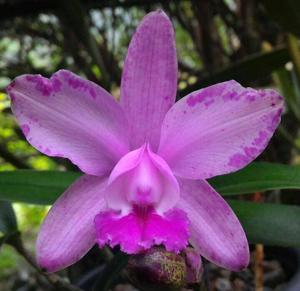
[[[189,238],[189,220],[174,207],[178,200],[176,178],[149,145],[129,152],[109,177],[109,209],[95,217],[98,245],[119,245],[128,254],[164,245],[178,253]]]

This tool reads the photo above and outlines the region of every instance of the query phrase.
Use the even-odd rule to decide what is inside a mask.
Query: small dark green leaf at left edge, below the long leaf
[[[11,204],[7,201],[0,201],[0,232],[3,236],[18,231],[17,219]]]

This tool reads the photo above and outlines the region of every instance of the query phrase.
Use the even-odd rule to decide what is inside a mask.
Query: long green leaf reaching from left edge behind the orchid
[[[0,199],[51,205],[79,176],[76,172],[58,171],[0,172]]]

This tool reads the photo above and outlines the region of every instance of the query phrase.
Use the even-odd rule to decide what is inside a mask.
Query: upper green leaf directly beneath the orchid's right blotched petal
[[[300,166],[256,162],[209,183],[222,195],[247,194],[275,189],[300,189]]]

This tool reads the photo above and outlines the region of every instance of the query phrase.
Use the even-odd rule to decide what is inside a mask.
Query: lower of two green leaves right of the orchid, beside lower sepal
[[[300,207],[233,200],[229,204],[251,243],[300,247]]]

